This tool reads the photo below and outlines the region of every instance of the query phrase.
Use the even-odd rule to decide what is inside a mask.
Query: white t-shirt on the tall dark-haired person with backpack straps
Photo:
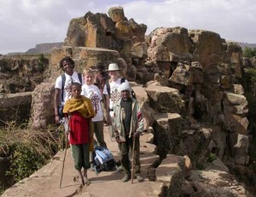
[[[73,72],[72,76],[69,76],[65,73],[66,76],[66,81],[64,84],[64,93],[63,93],[63,101],[61,98],[61,104],[65,104],[68,98],[71,98],[71,89],[70,89],[70,85],[72,82],[79,82],[81,84],[81,82],[79,81],[79,75],[77,72]],[[82,85],[84,84],[84,79],[82,77]],[[61,76],[58,76],[56,81],[55,81],[55,88],[58,89],[62,89],[62,78]]]

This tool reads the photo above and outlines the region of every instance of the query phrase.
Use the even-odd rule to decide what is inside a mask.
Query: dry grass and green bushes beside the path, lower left
[[[0,153],[10,155],[10,168],[6,175],[15,182],[29,177],[44,166],[51,156],[63,148],[64,132],[60,127],[49,127],[47,131],[33,131],[26,125],[9,123],[0,129]]]

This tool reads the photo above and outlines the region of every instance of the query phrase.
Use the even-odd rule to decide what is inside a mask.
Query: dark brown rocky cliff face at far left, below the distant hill
[[[0,57],[0,93],[32,92],[47,80],[49,59],[44,56]]]

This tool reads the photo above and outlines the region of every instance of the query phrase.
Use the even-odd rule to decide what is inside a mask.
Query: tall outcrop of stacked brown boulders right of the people
[[[179,142],[178,151],[173,152],[168,142],[166,146],[164,145],[166,148],[163,148],[168,150],[164,152],[189,155],[195,167],[195,160],[201,160],[200,158],[212,151],[207,150],[212,140],[212,129],[206,127],[207,130],[205,130],[202,126],[192,127],[193,119],[195,119],[195,121],[217,125],[220,128],[219,131],[223,129],[228,132],[228,135],[222,135],[222,132],[217,135],[218,138],[222,138],[222,142],[226,142],[225,147],[231,149],[230,154],[227,154],[227,151],[225,153],[233,163],[241,162],[234,157],[235,152],[243,152],[244,156],[240,155],[241,158],[247,158],[247,151],[243,151],[244,148],[241,148],[241,145],[237,148],[237,144],[241,144],[237,141],[237,137],[240,134],[246,136],[248,127],[247,99],[242,95],[241,85],[234,84],[237,79],[241,78],[241,48],[235,43],[225,42],[218,33],[201,30],[188,31],[183,27],[157,28],[150,34],[149,41],[148,62],[150,64],[146,64],[158,66],[162,71],[160,76],[166,77],[169,81],[166,86],[176,88],[178,93],[183,95],[185,114],[190,120],[184,123],[183,127],[177,130],[179,134],[175,135]],[[157,99],[154,99],[148,92],[150,107],[155,110],[155,106],[166,104],[172,106],[170,107],[172,113],[181,114],[181,110],[177,109],[180,99],[175,98],[179,104],[168,103],[172,99],[167,99],[165,93],[161,93],[161,88],[163,87],[156,88]],[[155,124],[155,130],[160,127],[157,125],[159,124]],[[206,135],[203,134],[204,131],[207,131]],[[166,139],[169,138],[173,139],[173,132],[167,133]],[[192,144],[191,142],[195,141],[198,142],[197,147],[190,147],[190,149],[186,147],[185,144]],[[203,142],[201,145],[205,153],[196,150],[201,147],[199,142]],[[247,140],[242,146],[247,147]],[[226,148],[217,145],[215,149],[222,149],[221,155],[218,156],[223,158]],[[241,149],[241,151],[236,149]]]

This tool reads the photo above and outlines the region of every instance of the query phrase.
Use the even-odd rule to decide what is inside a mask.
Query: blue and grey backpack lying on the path
[[[102,146],[96,146],[94,149],[93,165],[96,173],[102,171],[111,171],[114,167],[116,167],[113,154],[109,149]]]

